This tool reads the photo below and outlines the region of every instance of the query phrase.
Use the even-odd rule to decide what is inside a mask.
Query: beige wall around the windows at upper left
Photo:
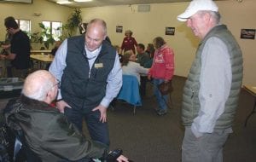
[[[0,40],[4,40],[5,26],[4,18],[14,16],[15,19],[24,19],[32,21],[32,32],[39,32],[38,23],[42,20],[66,22],[68,15],[73,9],[62,7],[55,3],[49,3],[46,0],[33,0],[32,4],[27,3],[0,3]],[[33,15],[40,13],[40,16]],[[32,44],[33,49],[41,47],[40,44]]]

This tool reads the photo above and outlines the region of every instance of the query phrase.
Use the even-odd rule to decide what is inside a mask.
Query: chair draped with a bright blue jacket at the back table
[[[136,107],[142,106],[142,99],[139,92],[139,83],[133,75],[123,75],[123,85],[117,96],[117,100],[124,100],[133,105],[133,114],[136,113]]]

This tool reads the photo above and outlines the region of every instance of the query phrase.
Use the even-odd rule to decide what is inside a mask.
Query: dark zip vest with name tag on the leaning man
[[[91,70],[85,55],[84,35],[67,39],[67,67],[61,78],[61,95],[71,107],[90,110],[98,106],[106,94],[116,51],[103,41]]]

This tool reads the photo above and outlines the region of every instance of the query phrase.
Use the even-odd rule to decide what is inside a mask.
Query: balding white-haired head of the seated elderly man
[[[38,70],[26,77],[21,93],[34,100],[44,101],[54,84],[55,78],[50,72]]]

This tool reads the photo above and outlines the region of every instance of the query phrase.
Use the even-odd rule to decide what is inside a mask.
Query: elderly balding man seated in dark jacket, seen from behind
[[[59,82],[48,71],[31,73],[21,95],[5,108],[6,123],[22,130],[28,148],[41,161],[90,161],[104,159],[107,146],[85,139],[63,113],[50,104],[55,100]],[[128,162],[123,155],[117,161]]]

